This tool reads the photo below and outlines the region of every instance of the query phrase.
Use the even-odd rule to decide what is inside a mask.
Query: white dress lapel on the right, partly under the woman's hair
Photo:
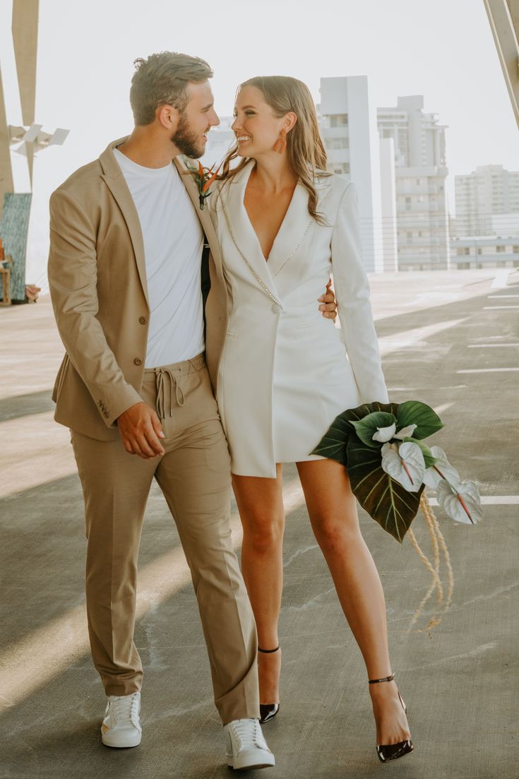
[[[326,182],[326,179],[324,181]],[[318,184],[316,191],[317,210],[321,211],[330,192],[330,185]],[[294,195],[274,239],[272,249],[270,249],[268,264],[273,277],[276,277],[288,265],[315,224],[316,220],[310,216],[308,211],[308,191],[299,183],[294,190]]]

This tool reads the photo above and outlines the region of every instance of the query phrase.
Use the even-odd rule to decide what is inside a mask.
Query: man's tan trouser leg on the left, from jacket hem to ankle
[[[90,648],[107,696],[141,687],[133,643],[137,556],[157,460],[129,455],[119,440],[72,432],[87,520],[87,615]]]

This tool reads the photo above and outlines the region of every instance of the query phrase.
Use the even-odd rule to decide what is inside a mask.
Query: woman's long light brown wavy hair
[[[297,116],[298,121],[287,133],[288,159],[299,181],[308,190],[309,213],[320,224],[327,224],[316,210],[317,192],[314,184],[318,176],[330,174],[327,173],[327,153],[308,86],[291,76],[255,76],[238,86],[237,96],[244,86],[256,86],[278,118],[289,111]],[[232,160],[238,157],[237,151],[238,144],[235,144],[226,154],[221,175],[218,176],[221,181],[230,181],[249,163],[250,157],[244,157],[236,167],[231,168]]]

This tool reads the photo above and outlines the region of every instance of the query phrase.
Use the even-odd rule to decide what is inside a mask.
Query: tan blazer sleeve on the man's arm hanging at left
[[[48,280],[58,331],[107,427],[142,398],[129,384],[97,319],[96,232],[69,192],[51,195]]]

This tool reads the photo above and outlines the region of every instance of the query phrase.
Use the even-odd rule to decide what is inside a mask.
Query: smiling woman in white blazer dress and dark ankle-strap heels
[[[261,647],[262,721],[279,709],[282,463],[295,462],[313,532],[365,660],[377,753],[392,760],[413,747],[391,674],[380,578],[344,467],[309,454],[345,408],[387,402],[355,190],[324,172],[312,97],[296,79],[243,83],[232,129],[237,145],[211,197],[231,305],[217,400]],[[235,157],[242,161],[231,169]],[[330,272],[344,340],[315,308]]]

